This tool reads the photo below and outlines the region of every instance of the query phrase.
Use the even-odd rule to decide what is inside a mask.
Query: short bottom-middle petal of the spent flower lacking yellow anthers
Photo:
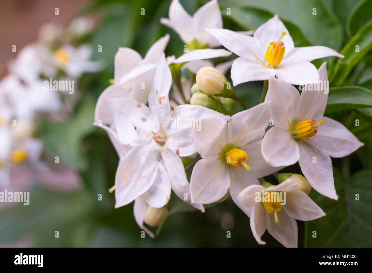
[[[146,203],[153,208],[164,207],[170,198],[170,181],[164,166],[159,163],[158,174],[154,180],[153,185],[144,193]]]

